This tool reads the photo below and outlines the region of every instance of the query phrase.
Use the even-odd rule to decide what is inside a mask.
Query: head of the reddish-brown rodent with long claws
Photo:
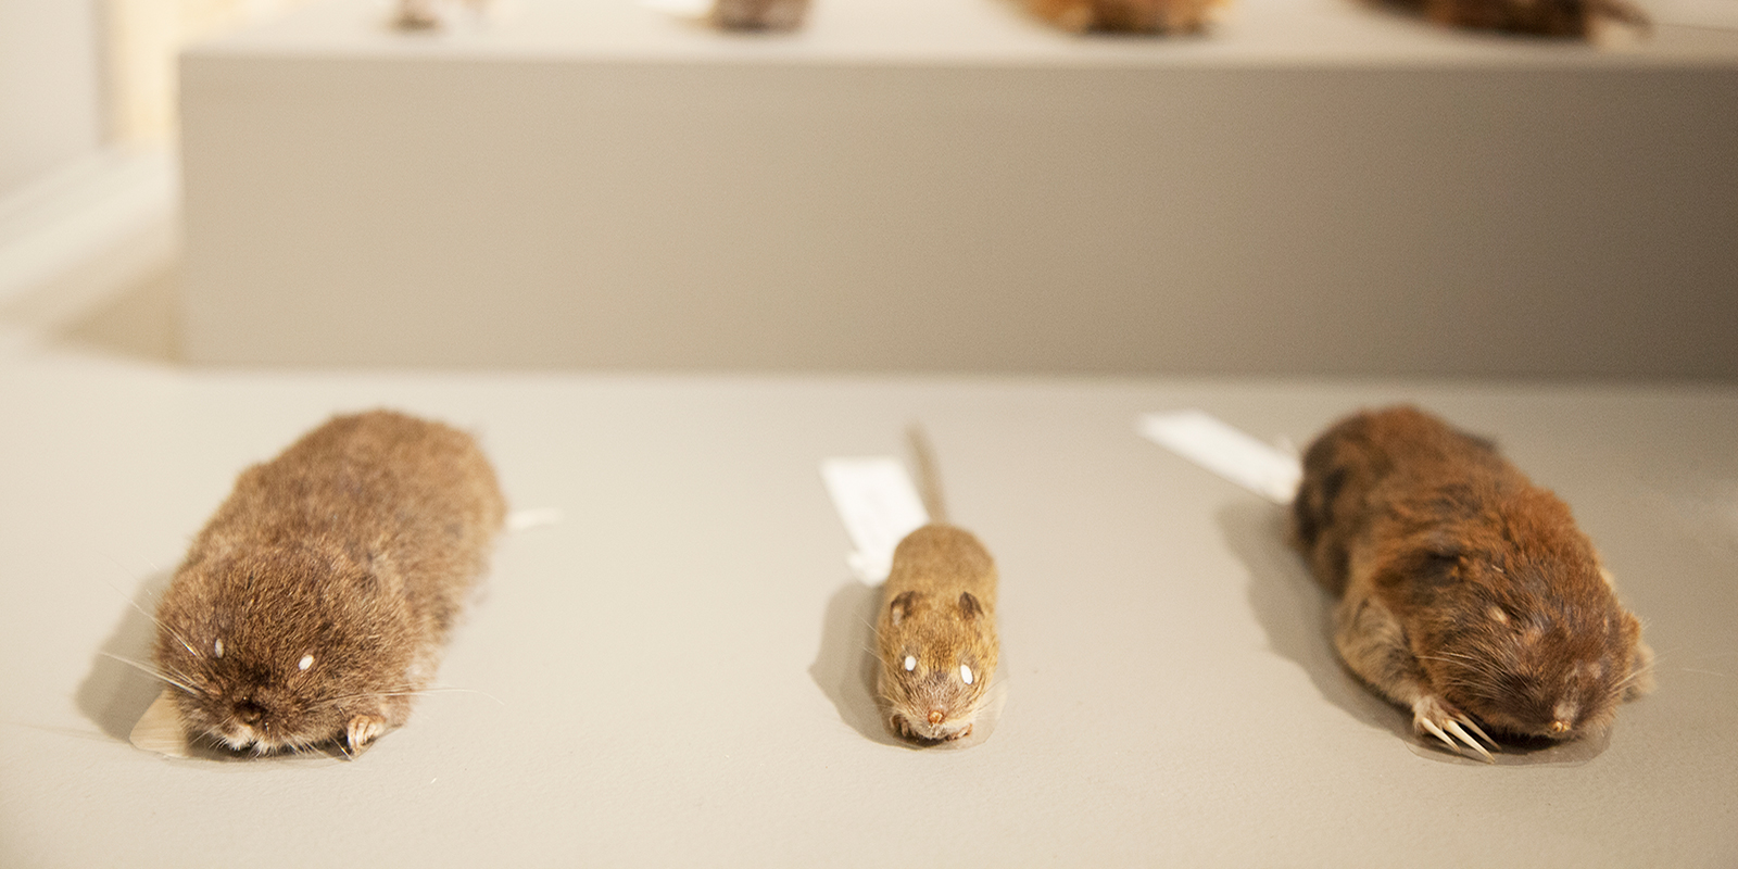
[[[1486,565],[1486,568],[1489,568]],[[1578,739],[1608,726],[1648,680],[1641,622],[1609,586],[1576,577],[1580,593],[1542,593],[1543,572],[1510,565],[1517,580],[1481,596],[1423,664],[1444,699],[1514,735]],[[1559,577],[1561,580],[1561,577]]]

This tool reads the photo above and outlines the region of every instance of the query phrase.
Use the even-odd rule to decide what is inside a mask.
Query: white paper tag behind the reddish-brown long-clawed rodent
[[[1147,440],[1274,504],[1290,504],[1304,480],[1304,464],[1297,455],[1269,447],[1203,410],[1142,414],[1135,428]]]

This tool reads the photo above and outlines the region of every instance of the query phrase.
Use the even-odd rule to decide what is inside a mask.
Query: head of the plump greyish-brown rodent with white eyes
[[[410,664],[388,582],[308,547],[182,567],[155,652],[186,728],[261,754],[342,735],[349,709],[401,690],[391,674]]]

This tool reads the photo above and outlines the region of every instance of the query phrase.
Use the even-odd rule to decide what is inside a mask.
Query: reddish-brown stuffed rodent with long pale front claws
[[[1568,504],[1484,440],[1411,407],[1361,412],[1304,455],[1293,535],[1342,600],[1347,667],[1413,726],[1489,753],[1483,723],[1575,739],[1651,688],[1653,652]]]

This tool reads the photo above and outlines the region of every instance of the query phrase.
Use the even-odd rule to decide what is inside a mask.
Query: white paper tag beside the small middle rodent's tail
[[[845,563],[871,586],[885,580],[899,541],[930,521],[905,466],[886,455],[824,459],[820,480],[855,547]]]

